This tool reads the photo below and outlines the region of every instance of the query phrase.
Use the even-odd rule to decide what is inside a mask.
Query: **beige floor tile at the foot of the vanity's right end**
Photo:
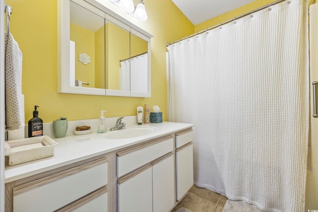
[[[196,195],[192,192],[189,192],[187,196],[175,207],[178,208],[187,208],[192,212],[214,212],[216,207],[215,203],[212,203],[199,195]]]

